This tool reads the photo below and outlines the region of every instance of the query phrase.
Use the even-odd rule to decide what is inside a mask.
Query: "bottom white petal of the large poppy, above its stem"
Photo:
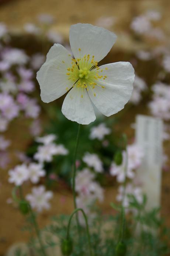
[[[81,98],[83,95],[83,98]],[[89,95],[85,89],[74,86],[62,105],[62,113],[66,118],[79,124],[90,124],[96,119]]]

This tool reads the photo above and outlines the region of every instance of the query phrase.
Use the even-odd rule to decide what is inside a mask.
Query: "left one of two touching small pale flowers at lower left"
[[[16,186],[22,185],[24,181],[29,179],[29,171],[25,164],[15,166],[8,174],[10,175],[8,181],[14,183]]]

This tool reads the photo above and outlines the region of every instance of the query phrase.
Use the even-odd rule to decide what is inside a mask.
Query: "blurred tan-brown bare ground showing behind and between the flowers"
[[[142,13],[147,9],[156,9],[163,12],[163,26],[169,29],[169,0],[18,0],[9,1],[0,6],[0,20],[8,24],[11,29],[22,27],[26,22],[36,22],[36,17],[41,13],[50,13],[56,17],[54,28],[61,31],[65,36],[68,35],[70,24],[77,22],[92,23],[101,16],[115,16],[121,21],[119,26],[115,26],[115,32],[121,27],[126,27],[126,21],[135,14]],[[119,45],[120,47],[120,45]],[[130,47],[131,44],[122,47]],[[143,114],[145,110],[141,106],[132,108],[128,119],[119,124],[122,131],[126,132],[129,138],[133,137],[133,130],[130,124],[134,122],[135,114]],[[22,131],[22,132],[21,132]],[[18,135],[19,133],[19,135]],[[13,149],[24,151],[30,142],[27,135],[27,122],[18,120],[10,125],[6,137],[13,141],[11,147],[11,167],[15,165]],[[166,144],[166,152],[170,156],[170,145]],[[10,166],[9,166],[10,167]],[[18,212],[17,208],[6,203],[11,197],[12,186],[7,182],[7,170],[0,172],[0,256],[3,256],[7,248],[15,242],[24,242],[28,239],[28,233],[22,232],[24,217]],[[170,171],[163,172],[162,175],[162,216],[170,226]],[[26,190],[29,188],[26,188]],[[105,213],[111,213],[110,202],[115,198],[115,187],[105,190],[105,201],[101,205]],[[49,222],[49,216],[70,213],[73,209],[72,195],[69,190],[58,189],[52,199],[52,209],[39,216],[39,225],[43,227]],[[56,207],[55,207],[56,205]]]

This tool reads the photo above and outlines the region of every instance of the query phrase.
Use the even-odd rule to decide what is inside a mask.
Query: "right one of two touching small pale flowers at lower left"
[[[28,166],[29,178],[32,183],[38,183],[40,177],[45,176],[45,170],[42,164],[30,163]]]

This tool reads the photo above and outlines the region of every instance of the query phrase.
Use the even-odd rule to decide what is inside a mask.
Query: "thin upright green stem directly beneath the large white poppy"
[[[77,138],[76,138],[76,146],[75,146],[74,157],[73,157],[73,198],[74,198],[74,210],[77,208],[75,179],[76,179],[76,156],[77,156],[77,149],[78,149],[78,144],[79,144],[79,135],[80,135],[80,124],[78,126]]]

